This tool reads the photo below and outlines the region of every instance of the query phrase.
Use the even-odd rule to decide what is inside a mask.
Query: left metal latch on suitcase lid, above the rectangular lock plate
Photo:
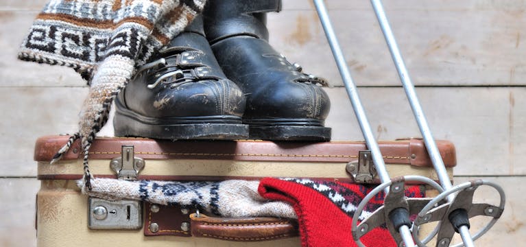
[[[110,162],[110,167],[117,172],[117,177],[123,180],[137,180],[144,165],[142,158],[134,157],[133,145],[122,145],[121,157],[113,158]]]

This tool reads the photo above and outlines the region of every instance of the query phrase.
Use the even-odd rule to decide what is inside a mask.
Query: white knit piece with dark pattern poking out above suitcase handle
[[[77,180],[77,185],[82,189],[82,193],[106,200],[141,200],[199,209],[223,217],[296,218],[290,204],[267,200],[260,196],[259,181],[175,182],[93,178],[91,190],[82,180]]]

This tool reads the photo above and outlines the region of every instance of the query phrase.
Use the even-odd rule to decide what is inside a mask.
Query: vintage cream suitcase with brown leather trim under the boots
[[[298,237],[295,237],[298,233],[294,220],[273,217],[226,219],[205,215],[196,219],[195,214],[192,214],[195,210],[146,202],[111,202],[88,198],[75,183],[83,174],[78,141],[60,162],[49,164],[53,154],[68,138],[49,136],[36,141],[34,159],[38,162],[38,179],[41,180],[36,198],[38,246],[300,245]],[[452,167],[456,165],[455,147],[449,141],[437,143],[452,178]],[[420,175],[437,180],[422,140],[381,141],[379,146],[390,176]],[[141,169],[136,179],[139,180],[299,177],[378,183],[372,162],[366,154],[363,142],[171,142],[108,137],[97,138],[93,143],[90,169],[95,178],[117,178],[116,165],[120,164],[121,171],[124,171],[127,168],[123,160],[142,158],[138,159]],[[116,161],[119,158],[120,163]],[[126,179],[126,176],[130,176],[130,173],[122,173],[121,176]],[[429,193],[434,192],[429,189]],[[101,220],[102,223],[98,222],[99,228],[88,228],[88,224],[97,222],[97,205],[104,205],[109,211],[105,213],[110,213],[115,219],[122,220],[121,217],[125,217],[125,220],[134,222],[136,226],[129,230],[123,229],[127,226],[110,230],[115,228],[112,224],[121,223],[109,222],[106,227],[104,222],[112,220],[108,216]]]

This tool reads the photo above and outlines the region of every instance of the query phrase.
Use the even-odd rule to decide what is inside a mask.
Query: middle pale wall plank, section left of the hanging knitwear
[[[43,134],[73,133],[87,88],[0,87],[0,176],[36,176],[34,143]]]

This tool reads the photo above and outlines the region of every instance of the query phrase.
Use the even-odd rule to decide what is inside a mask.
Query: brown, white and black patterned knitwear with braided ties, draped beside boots
[[[106,124],[115,95],[158,49],[184,30],[206,0],[50,0],[23,40],[19,58],[72,67],[88,80],[79,132],[54,157],[82,139],[84,178],[88,149]]]

